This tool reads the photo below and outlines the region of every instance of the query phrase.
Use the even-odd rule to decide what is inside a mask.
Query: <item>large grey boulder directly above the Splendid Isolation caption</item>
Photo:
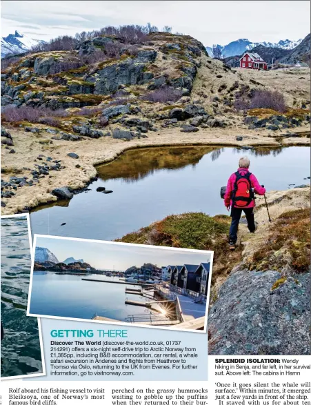
[[[210,355],[310,355],[310,273],[237,271],[221,286],[208,328]]]

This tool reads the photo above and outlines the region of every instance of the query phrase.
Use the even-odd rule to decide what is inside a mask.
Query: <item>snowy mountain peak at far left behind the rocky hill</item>
[[[32,46],[38,43],[45,43],[45,41],[30,38],[28,34],[15,30],[14,34],[1,37],[1,58],[10,54],[14,55],[27,52]]]

